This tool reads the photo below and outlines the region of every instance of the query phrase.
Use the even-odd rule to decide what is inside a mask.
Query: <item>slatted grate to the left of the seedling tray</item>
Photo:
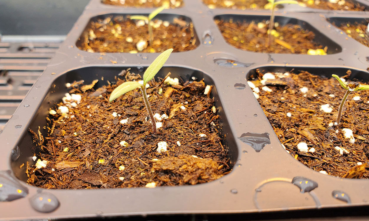
[[[0,42],[0,132],[60,44]]]

